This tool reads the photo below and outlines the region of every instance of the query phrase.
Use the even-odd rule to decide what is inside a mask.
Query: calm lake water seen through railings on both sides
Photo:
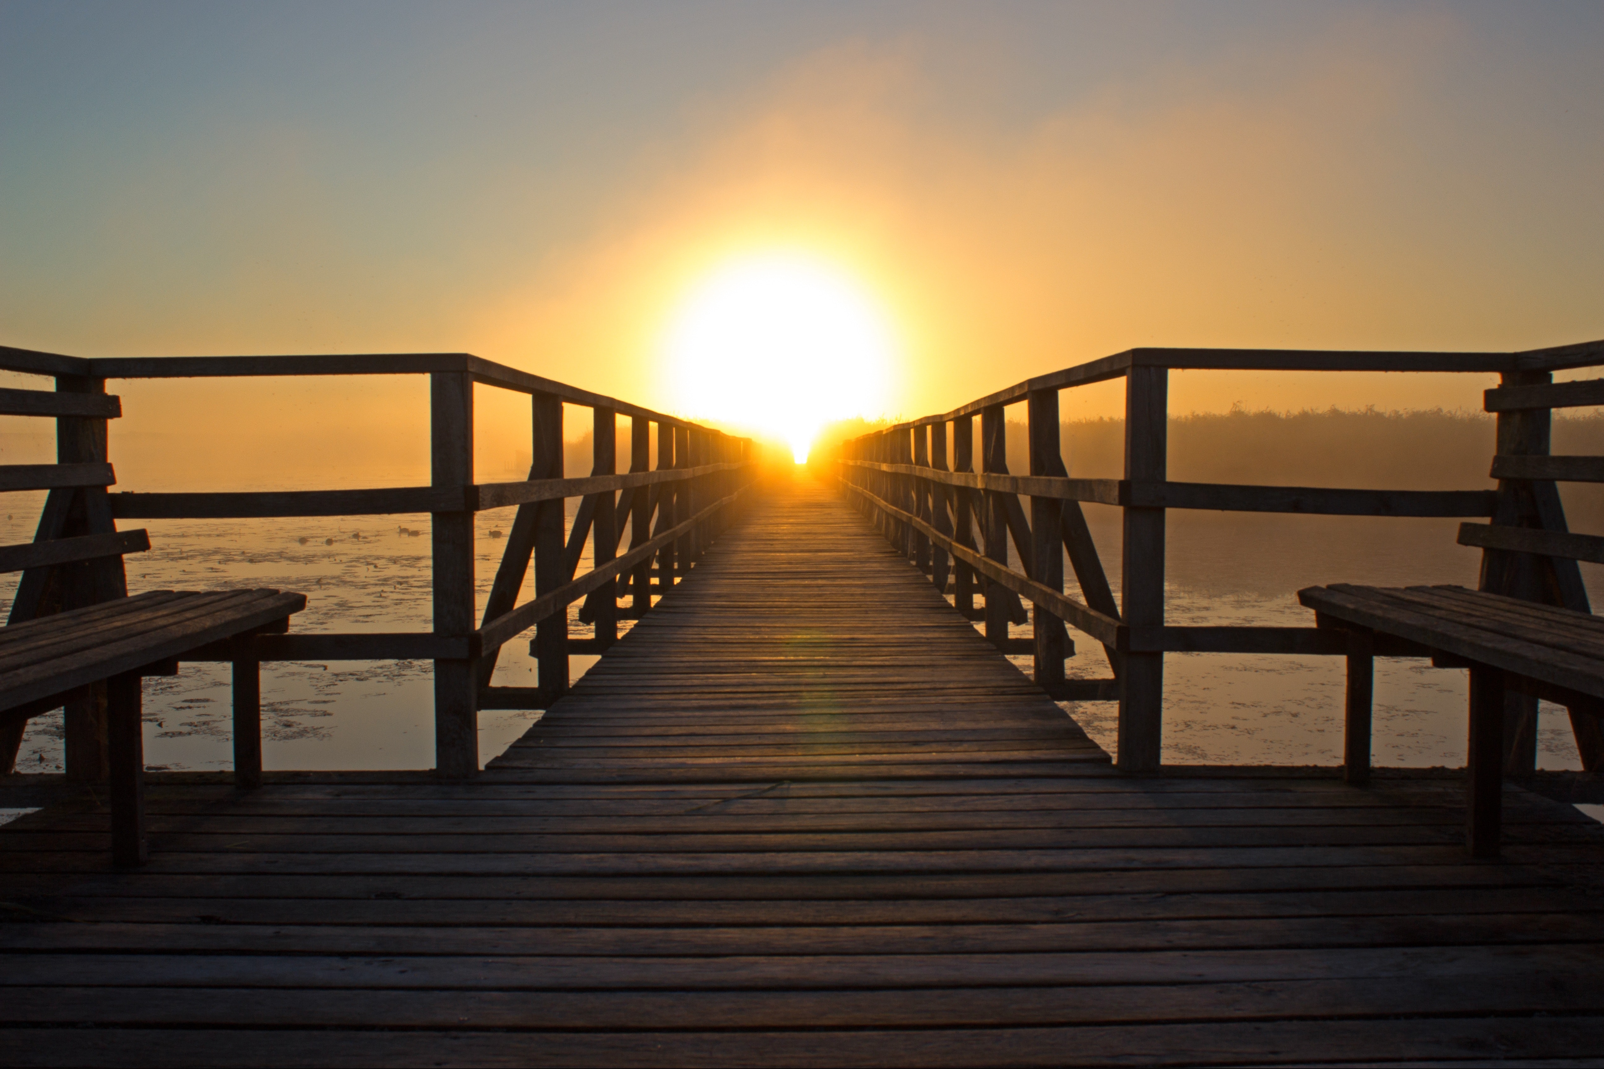
[[[26,542],[42,495],[13,495],[3,543]],[[478,516],[478,604],[483,611],[513,510]],[[1091,506],[1092,532],[1118,590],[1120,527]],[[428,516],[363,519],[140,521],[151,551],[130,555],[128,588],[279,587],[308,593],[297,631],[425,631],[430,628]],[[124,524],[133,526],[133,524]],[[1346,516],[1171,513],[1171,623],[1312,623],[1296,590],[1327,582],[1476,585],[1479,551],[1453,543],[1456,521]],[[581,566],[582,569],[587,564]],[[1594,601],[1599,569],[1583,564]],[[1065,574],[1073,575],[1067,567]],[[16,577],[5,577],[0,609]],[[1073,590],[1075,583],[1070,582]],[[533,596],[525,590],[520,599]],[[571,609],[577,612],[577,606]],[[627,622],[621,628],[627,628]],[[576,630],[577,623],[576,623]],[[1015,633],[1020,633],[1015,630]],[[1027,631],[1028,633],[1028,631]],[[1100,647],[1076,635],[1071,675],[1105,676]],[[1014,662],[1027,673],[1028,657]],[[595,657],[573,657],[577,678]],[[1165,760],[1171,763],[1335,764],[1341,752],[1343,659],[1233,654],[1166,657]],[[1376,662],[1375,761],[1386,766],[1464,763],[1461,670],[1421,660]],[[415,769],[433,764],[428,662],[287,662],[261,667],[263,756],[276,769]],[[502,649],[497,686],[533,686],[528,641]],[[146,761],[165,769],[231,766],[228,665],[183,665],[146,681]],[[1112,702],[1065,708],[1113,750]],[[480,713],[489,760],[539,713]],[[1543,707],[1543,768],[1580,768],[1562,708]],[[18,771],[61,771],[61,715],[32,721]]]

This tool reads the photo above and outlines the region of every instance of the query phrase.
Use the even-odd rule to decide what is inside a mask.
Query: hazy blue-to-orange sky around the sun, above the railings
[[[1134,345],[1604,337],[1604,5],[0,3],[10,345],[667,404],[687,292],[776,248],[885,309],[905,415]]]

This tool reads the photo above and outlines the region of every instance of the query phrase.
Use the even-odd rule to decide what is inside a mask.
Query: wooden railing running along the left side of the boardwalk
[[[752,482],[749,439],[568,386],[464,353],[361,356],[220,356],[85,359],[0,346],[0,369],[51,375],[56,391],[3,389],[0,413],[56,417],[58,465],[0,465],[0,490],[51,490],[51,510],[66,513],[74,487],[106,486],[106,420],[120,415],[106,396],[112,378],[241,378],[306,375],[428,375],[430,484],[361,490],[271,490],[196,494],[103,494],[109,502],[74,535],[111,535],[114,519],[215,519],[265,516],[377,516],[430,513],[433,535],[433,628],[415,633],[289,633],[255,639],[261,660],[433,660],[435,761],[444,776],[478,769],[478,710],[545,708],[568,691],[568,656],[602,654],[618,639],[621,617],[648,612],[727,526]],[[473,481],[475,383],[528,394],[533,465],[520,482]],[[593,468],[563,478],[563,404],[593,412]],[[616,471],[618,417],[630,420],[630,463]],[[249,413],[242,413],[249,418]],[[656,425],[656,468],[651,468]],[[582,498],[566,522],[566,498]],[[473,514],[516,506],[500,566],[481,619],[473,604]],[[93,510],[91,510],[93,511]],[[38,587],[51,567],[40,526],[32,553],[40,571],[22,572]],[[629,545],[621,543],[629,534]],[[576,577],[585,545],[593,569]],[[35,548],[37,547],[37,548]],[[22,561],[34,558],[21,556]],[[516,604],[529,566],[536,596]],[[30,579],[32,577],[32,579]],[[19,587],[21,588],[21,587]],[[590,638],[571,638],[568,606],[584,599],[579,619]],[[619,599],[627,604],[619,606]],[[528,628],[536,635],[536,688],[491,686],[500,647]],[[231,660],[226,649],[196,659]],[[69,724],[67,734],[72,734]],[[74,739],[67,739],[69,776]]]

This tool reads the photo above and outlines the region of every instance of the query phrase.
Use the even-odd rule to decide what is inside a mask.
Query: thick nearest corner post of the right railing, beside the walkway
[[[1169,454],[1169,369],[1132,367],[1124,381],[1124,478],[1161,482]],[[1165,510],[1126,508],[1121,561],[1124,622],[1156,628],[1165,622]],[[1124,656],[1120,675],[1123,771],[1156,769],[1163,744],[1165,656]]]

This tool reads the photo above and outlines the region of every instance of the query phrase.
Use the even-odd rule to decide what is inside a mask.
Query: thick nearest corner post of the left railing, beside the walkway
[[[468,641],[473,635],[473,377],[431,372],[430,473],[435,489],[460,495],[462,508],[435,513],[435,636]],[[462,779],[480,769],[478,670],[467,657],[435,660],[435,771]]]

